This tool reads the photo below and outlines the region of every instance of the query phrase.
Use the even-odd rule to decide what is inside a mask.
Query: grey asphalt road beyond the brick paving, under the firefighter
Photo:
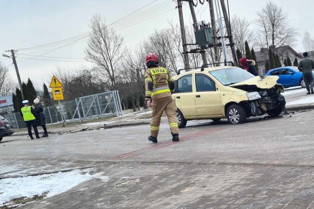
[[[188,121],[187,127],[180,129],[180,142],[171,141],[164,118],[157,144],[147,139],[148,125],[52,135],[39,140],[7,137],[0,143],[0,159],[85,164],[118,161],[312,166],[313,116],[314,111],[269,119],[261,116],[241,125],[229,125],[226,120]]]

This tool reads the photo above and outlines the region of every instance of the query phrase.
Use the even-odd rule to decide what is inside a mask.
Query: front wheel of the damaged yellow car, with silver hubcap
[[[231,125],[244,123],[246,121],[246,111],[244,107],[238,104],[230,105],[227,109],[227,119]]]

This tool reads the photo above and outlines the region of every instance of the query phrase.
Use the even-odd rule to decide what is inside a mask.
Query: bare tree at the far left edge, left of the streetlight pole
[[[0,96],[6,96],[14,92],[15,85],[9,73],[8,67],[0,62]]]

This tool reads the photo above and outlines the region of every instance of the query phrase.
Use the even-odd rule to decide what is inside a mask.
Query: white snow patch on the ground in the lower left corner
[[[48,192],[46,196],[51,197],[92,177],[88,173],[81,174],[79,170],[73,170],[64,173],[2,179],[0,180],[0,206],[15,198],[33,197],[44,192]]]

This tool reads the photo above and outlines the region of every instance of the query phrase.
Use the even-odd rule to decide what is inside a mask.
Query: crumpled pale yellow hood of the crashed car
[[[256,76],[254,78],[250,78],[248,80],[232,84],[229,87],[255,85],[257,88],[273,88],[275,85],[277,85],[278,79],[279,79],[278,76]]]

